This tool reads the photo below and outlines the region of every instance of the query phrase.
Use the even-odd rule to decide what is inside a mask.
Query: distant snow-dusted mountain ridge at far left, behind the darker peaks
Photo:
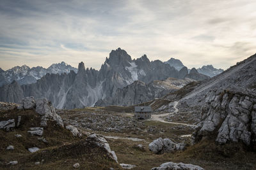
[[[35,83],[36,80],[39,80],[47,73],[61,74],[69,73],[71,70],[77,72],[77,68],[72,67],[65,62],[52,64],[47,69],[41,66],[30,68],[26,65],[15,66],[6,71],[3,71],[3,69],[0,68],[0,86],[11,83],[13,80],[17,81],[20,85],[31,84]]]

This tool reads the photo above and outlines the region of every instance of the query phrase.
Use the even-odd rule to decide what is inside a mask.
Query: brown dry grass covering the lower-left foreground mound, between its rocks
[[[71,132],[54,121],[48,121],[44,128],[44,138],[49,143],[38,140],[38,136],[28,134],[29,127],[39,127],[40,117],[34,110],[1,111],[0,120],[8,120],[21,116],[21,125],[10,132],[0,130],[0,169],[73,169],[73,164],[79,162],[81,169],[109,169],[120,166],[109,158],[106,152],[97,146],[89,145],[83,138],[75,138]],[[15,134],[21,134],[17,138]],[[6,150],[13,145],[14,150]],[[30,153],[28,148],[38,147],[40,150]],[[15,166],[6,166],[6,163],[18,160]],[[35,166],[35,162],[44,162]]]

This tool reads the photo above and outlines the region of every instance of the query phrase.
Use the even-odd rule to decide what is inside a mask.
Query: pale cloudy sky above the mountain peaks
[[[99,69],[111,50],[227,69],[256,53],[255,0],[1,0],[0,67]]]

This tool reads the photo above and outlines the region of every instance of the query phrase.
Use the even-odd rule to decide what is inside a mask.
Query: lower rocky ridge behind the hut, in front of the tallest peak
[[[146,101],[151,101],[155,98],[165,96],[166,94],[178,90],[191,81],[189,78],[184,80],[176,78],[167,78],[164,81],[154,80],[150,83],[143,81],[134,81],[131,85],[127,85],[122,89],[117,89],[113,97],[106,97],[99,100],[95,106],[132,106]]]

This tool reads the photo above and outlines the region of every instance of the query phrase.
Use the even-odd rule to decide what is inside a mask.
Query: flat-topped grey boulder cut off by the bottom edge
[[[204,170],[204,168],[200,166],[195,166],[193,164],[184,164],[180,162],[179,164],[174,162],[166,162],[161,164],[160,167],[153,167],[151,170]]]

